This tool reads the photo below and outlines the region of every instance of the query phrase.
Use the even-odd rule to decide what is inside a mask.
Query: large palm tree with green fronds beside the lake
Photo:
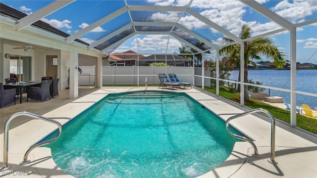
[[[241,28],[239,37],[247,39],[251,37],[250,27],[244,24]],[[226,43],[233,43],[234,41],[228,37],[222,38]],[[219,49],[219,55],[227,55],[233,64],[240,66],[240,44],[229,45]],[[261,60],[261,56],[267,59],[272,59],[276,68],[282,68],[285,64],[285,55],[278,50],[273,44],[273,40],[268,37],[260,37],[251,41],[244,42],[244,82],[248,81],[248,64],[254,64],[251,60]],[[239,72],[239,81],[240,81]],[[248,86],[244,86],[244,99],[249,100]]]

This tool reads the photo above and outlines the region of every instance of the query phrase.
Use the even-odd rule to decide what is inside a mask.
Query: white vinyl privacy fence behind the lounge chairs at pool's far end
[[[82,74],[78,76],[79,86],[95,84],[95,66],[80,66]],[[103,66],[103,85],[145,85],[147,78],[148,85],[159,85],[158,74],[176,74],[180,81],[194,84],[193,67],[151,67],[139,66],[139,78],[137,66]],[[195,67],[195,75],[201,75],[202,68]],[[205,71],[206,76],[210,76],[209,71]],[[90,82],[89,82],[90,78]],[[195,77],[195,86],[202,85],[202,78]],[[205,86],[210,85],[210,80],[205,79]]]

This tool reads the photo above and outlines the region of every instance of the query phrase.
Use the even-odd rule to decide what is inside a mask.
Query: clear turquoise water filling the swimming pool
[[[184,93],[110,94],[47,146],[76,178],[191,178],[219,166],[236,139]]]

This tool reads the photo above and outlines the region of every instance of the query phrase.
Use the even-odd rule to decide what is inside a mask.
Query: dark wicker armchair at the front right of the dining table
[[[44,99],[51,100],[50,86],[52,84],[52,80],[43,80],[41,83],[41,87],[28,87],[28,95],[26,98],[26,102],[28,99],[41,100],[43,102]]]

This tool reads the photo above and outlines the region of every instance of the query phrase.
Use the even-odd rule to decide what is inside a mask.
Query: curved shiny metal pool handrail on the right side
[[[274,119],[273,115],[270,112],[266,111],[265,109],[259,108],[259,109],[253,109],[251,111],[247,111],[247,112],[244,112],[244,113],[241,113],[241,114],[237,114],[237,115],[231,116],[226,121],[227,131],[229,132],[229,134],[231,134],[232,136],[234,136],[236,138],[242,139],[244,141],[248,141],[253,146],[253,149],[254,149],[254,154],[252,154],[252,156],[260,158],[261,155],[258,154],[258,148],[253,143],[253,141],[251,141],[247,137],[240,136],[240,135],[237,135],[237,134],[233,134],[230,131],[230,129],[229,129],[229,122],[231,120],[239,118],[239,117],[242,117],[242,116],[245,116],[245,115],[248,115],[248,114],[256,113],[256,112],[262,112],[262,113],[266,114],[271,119],[271,155],[270,155],[270,160],[267,160],[267,161],[269,163],[271,163],[271,164],[277,164],[277,162],[275,162],[275,160],[274,160],[274,158],[275,158],[275,119]]]

